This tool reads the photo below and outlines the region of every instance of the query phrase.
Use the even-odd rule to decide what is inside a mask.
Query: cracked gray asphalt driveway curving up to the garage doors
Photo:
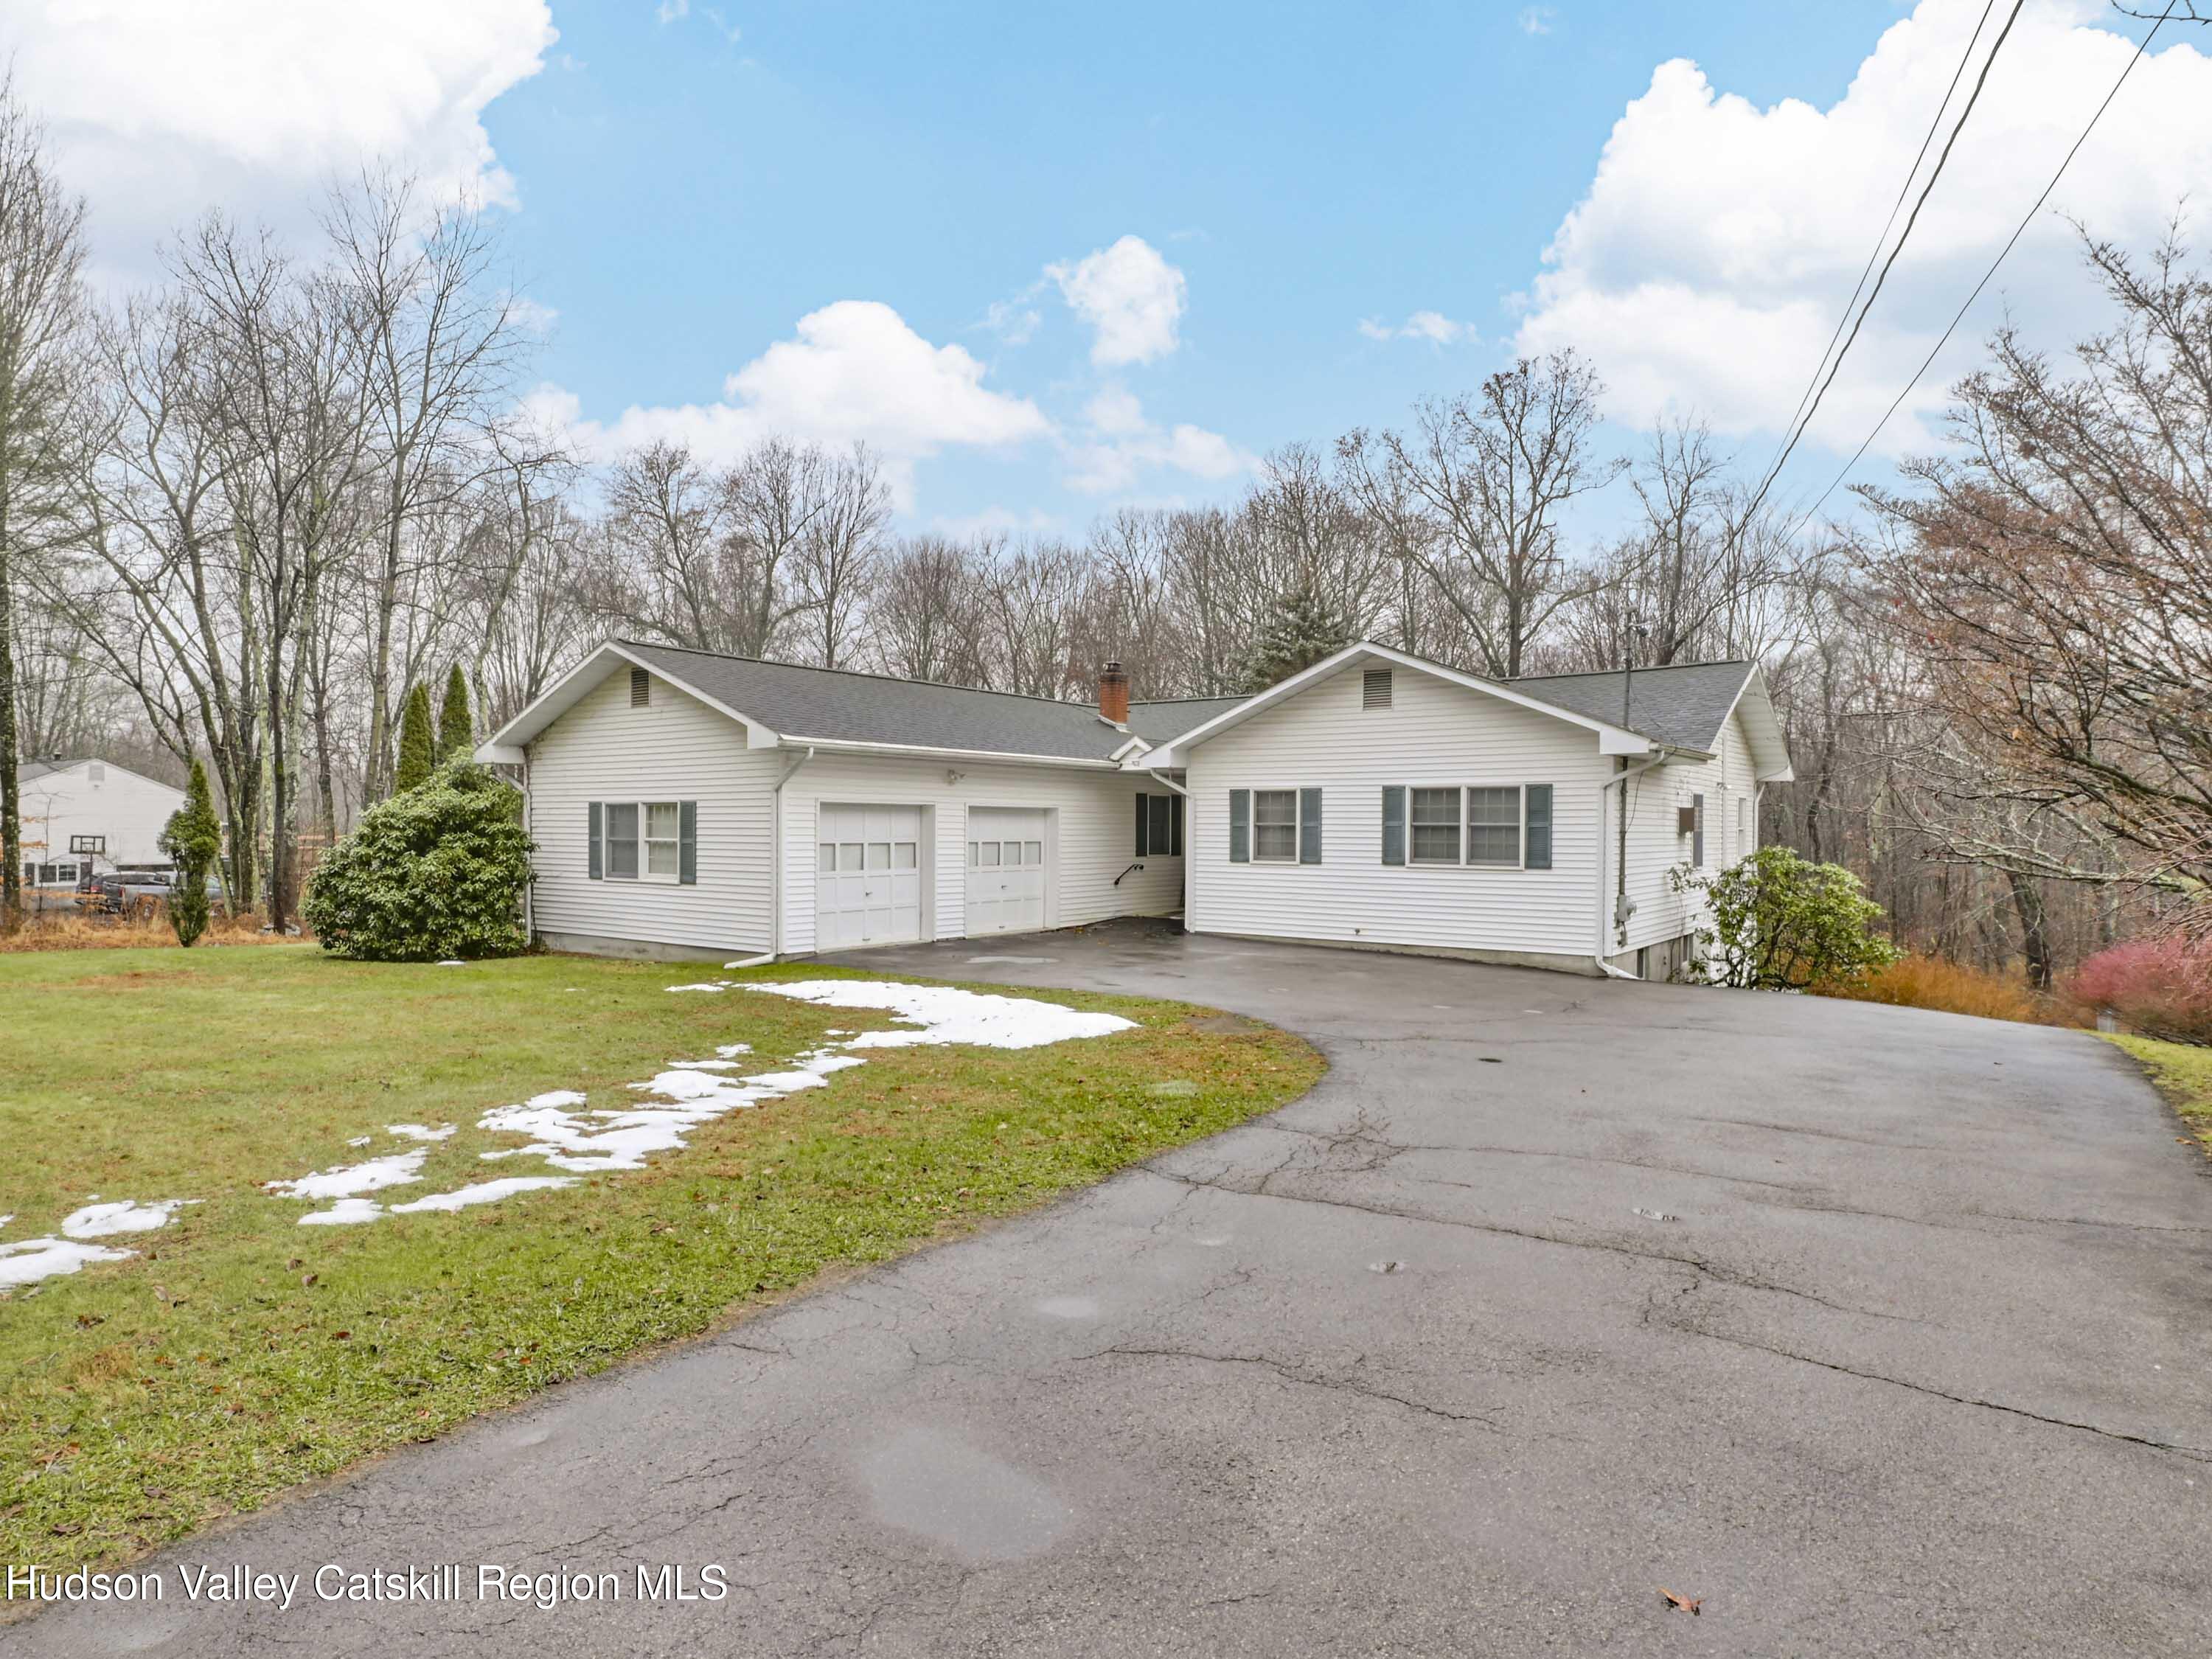
[[[1332,1071],[153,1562],[622,1601],[173,1582],[0,1652],[2212,1652],[2212,1181],[2110,1046],[1144,925],[843,960],[1206,1002]]]

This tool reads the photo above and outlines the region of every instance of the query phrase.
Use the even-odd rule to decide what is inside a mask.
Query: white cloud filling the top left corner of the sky
[[[544,66],[546,0],[9,0],[0,62],[93,204],[102,263],[210,206],[305,228],[383,161],[511,206],[482,113]]]

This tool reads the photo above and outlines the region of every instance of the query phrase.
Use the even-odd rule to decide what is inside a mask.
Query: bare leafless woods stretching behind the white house
[[[400,175],[334,188],[314,246],[210,215],[93,294],[0,88],[0,898],[18,757],[199,757],[228,896],[283,927],[299,843],[392,794],[409,695],[458,670],[482,734],[611,633],[1071,699],[1108,659],[1206,697],[1367,637],[1493,677],[1759,659],[1796,757],[1763,838],[2046,984],[2212,878],[2212,290],[2179,246],[2084,259],[2108,327],[2000,332],[1947,440],[1834,520],[1692,418],[1615,453],[1559,352],[1225,504],[909,533],[860,445],[577,453],[493,221]]]

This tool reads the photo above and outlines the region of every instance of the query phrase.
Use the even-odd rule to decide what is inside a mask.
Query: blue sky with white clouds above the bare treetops
[[[909,526],[1057,533],[1557,345],[1613,387],[1606,442],[1694,416],[1756,471],[1984,11],[115,2],[133,29],[0,15],[111,281],[204,206],[305,234],[396,159],[498,204],[553,312],[533,407],[593,456],[865,438]],[[2139,33],[2028,0],[1785,498],[1911,380]],[[2004,307],[2099,321],[2057,210],[2143,246],[2212,177],[2208,33],[2159,40],[1874,469]]]

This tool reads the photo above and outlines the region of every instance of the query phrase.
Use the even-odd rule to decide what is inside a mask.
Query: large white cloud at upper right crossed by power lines
[[[1975,0],[1922,0],[1825,111],[1798,100],[1756,108],[1717,93],[1697,64],[1659,64],[1546,250],[1517,347],[1586,352],[1610,385],[1608,414],[1624,420],[1694,409],[1723,431],[1781,431],[1978,13]],[[1856,447],[2048,184],[2135,51],[2135,40],[2093,27],[2106,15],[2086,0],[2022,13],[1827,394],[1814,442]],[[2148,241],[2208,175],[2212,62],[2172,44],[2135,69],[1905,414],[1942,407],[1944,387],[1980,352],[2000,290],[2051,341],[2099,321],[2059,212]],[[1882,449],[1924,440],[1924,427],[1900,416]]]

